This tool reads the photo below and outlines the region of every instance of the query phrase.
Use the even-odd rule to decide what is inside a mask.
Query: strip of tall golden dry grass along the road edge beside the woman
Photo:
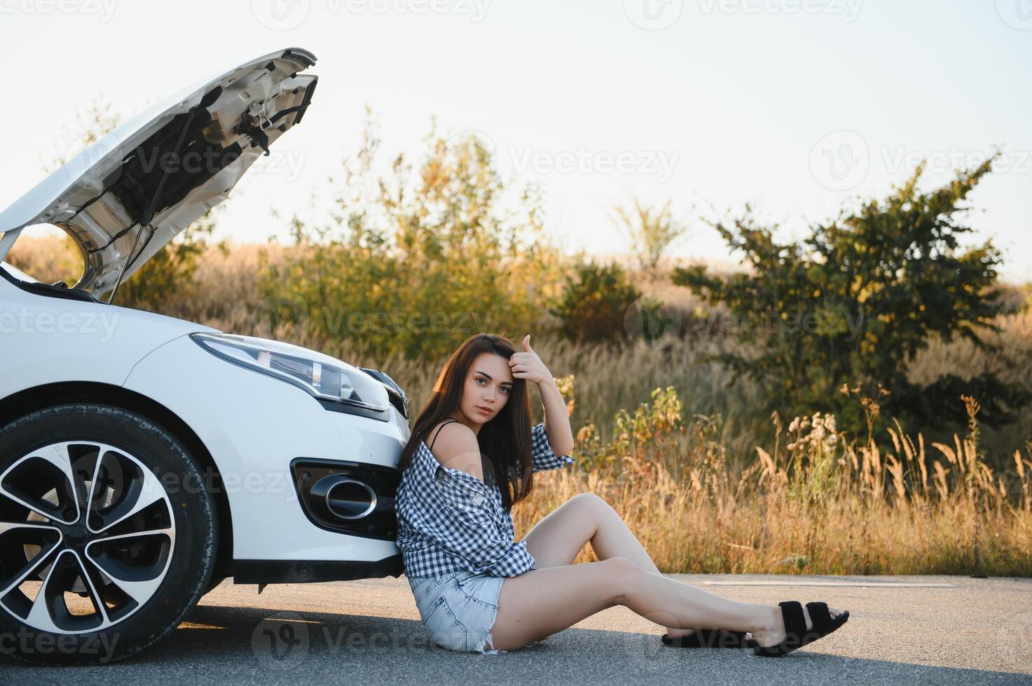
[[[848,440],[834,417],[777,425],[735,469],[705,419],[685,424],[673,389],[617,420],[612,442],[578,434],[578,464],[539,472],[514,510],[518,535],[581,492],[605,498],[666,573],[1032,575],[1032,443],[997,473],[971,426],[931,449],[890,431]],[[683,452],[680,434],[690,437]],[[525,503],[525,504],[524,504]],[[577,561],[595,559],[590,547]]]

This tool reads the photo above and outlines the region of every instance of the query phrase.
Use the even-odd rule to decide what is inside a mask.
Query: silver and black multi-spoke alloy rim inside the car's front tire
[[[0,609],[34,629],[124,621],[161,586],[174,544],[161,482],[114,446],[51,444],[0,475]]]

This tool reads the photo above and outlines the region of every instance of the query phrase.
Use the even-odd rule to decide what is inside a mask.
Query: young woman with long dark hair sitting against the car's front
[[[823,602],[737,602],[662,576],[592,493],[570,498],[513,543],[510,511],[529,494],[531,475],[574,462],[566,402],[529,335],[522,349],[488,333],[467,338],[401,454],[397,545],[436,643],[505,652],[620,605],[663,625],[667,645],[748,645],[780,656],[845,623],[848,613]],[[545,412],[534,427],[527,382]],[[600,561],[574,564],[586,543]]]

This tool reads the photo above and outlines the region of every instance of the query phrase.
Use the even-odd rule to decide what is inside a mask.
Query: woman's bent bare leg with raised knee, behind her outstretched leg
[[[600,560],[625,557],[645,571],[660,575],[652,558],[616,511],[594,493],[573,496],[538,522],[524,538],[527,552],[534,556],[538,568],[573,564],[584,544],[590,543]],[[694,631],[679,626],[665,628],[675,638]]]

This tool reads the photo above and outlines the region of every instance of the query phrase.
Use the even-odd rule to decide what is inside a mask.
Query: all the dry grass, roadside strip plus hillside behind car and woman
[[[10,261],[47,283],[73,282],[70,250],[59,238],[23,237]],[[283,303],[261,300],[259,272],[283,264],[289,250],[209,250],[189,297],[163,303],[161,314],[384,369],[418,412],[444,359],[384,359],[357,337],[317,338],[296,318],[269,317]],[[590,491],[665,571],[1032,575],[1032,407],[990,432],[972,399],[970,424],[942,436],[909,435],[895,422],[873,429],[877,399],[857,398],[871,413],[868,435],[847,435],[819,414],[784,423],[760,411],[750,382],[729,386],[724,369],[701,362],[734,344],[714,320],[692,317],[690,293],[662,279],[642,277],[639,289],[678,303],[674,345],[571,344],[548,335],[544,320],[529,331],[570,401],[578,463],[537,475],[534,497],[514,511],[518,531]],[[998,324],[1000,354],[932,341],[911,377],[995,369],[1032,387],[1032,313]],[[581,559],[592,559],[588,548]]]

